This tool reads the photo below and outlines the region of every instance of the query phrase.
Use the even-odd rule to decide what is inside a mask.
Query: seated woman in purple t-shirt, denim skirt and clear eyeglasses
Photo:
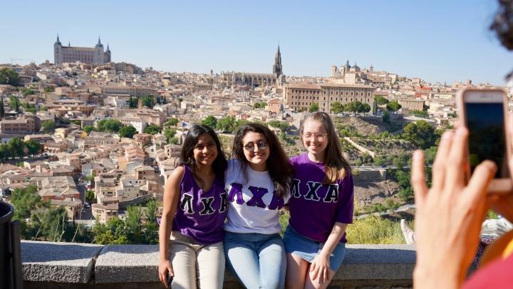
[[[353,177],[327,113],[309,114],[300,131],[307,152],[291,158],[286,288],[326,288],[346,255]]]

